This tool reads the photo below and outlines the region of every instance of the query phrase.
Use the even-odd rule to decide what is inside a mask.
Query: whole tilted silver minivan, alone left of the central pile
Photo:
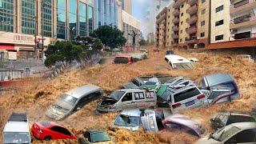
[[[80,86],[62,94],[46,111],[46,116],[62,120],[69,114],[82,109],[87,103],[99,98],[103,91],[94,85]]]

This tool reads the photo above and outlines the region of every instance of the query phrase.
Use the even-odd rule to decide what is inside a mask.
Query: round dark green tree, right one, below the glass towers
[[[100,26],[90,35],[93,38],[99,38],[104,46],[110,47],[112,50],[119,46],[125,46],[126,38],[123,37],[123,34],[124,33],[116,27]]]

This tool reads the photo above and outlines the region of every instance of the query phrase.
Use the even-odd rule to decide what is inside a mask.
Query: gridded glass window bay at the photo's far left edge
[[[14,31],[14,0],[0,0],[0,31]]]

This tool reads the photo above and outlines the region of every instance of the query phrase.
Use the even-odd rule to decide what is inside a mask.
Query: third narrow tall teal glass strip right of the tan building
[[[87,26],[86,26],[86,3],[79,2],[79,35],[87,36]]]

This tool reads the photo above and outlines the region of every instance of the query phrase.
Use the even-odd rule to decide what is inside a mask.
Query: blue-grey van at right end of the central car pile
[[[202,90],[210,90],[211,104],[232,101],[239,98],[238,86],[230,74],[210,74],[202,78]]]

